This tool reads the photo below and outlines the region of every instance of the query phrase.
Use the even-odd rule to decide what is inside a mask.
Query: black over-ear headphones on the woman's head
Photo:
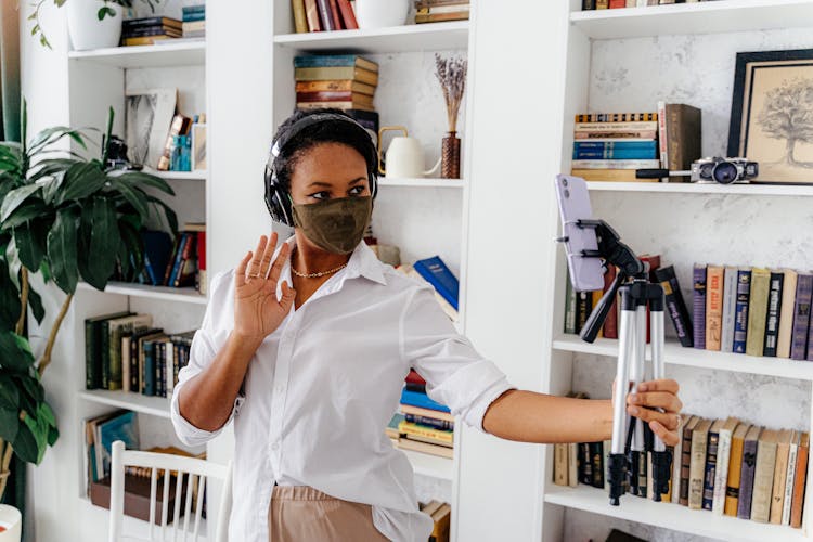
[[[365,137],[370,138],[370,149],[367,155],[364,156],[364,162],[367,165],[367,179],[370,181],[370,192],[375,198],[378,193],[378,182],[376,170],[378,168],[378,155],[375,150],[370,132],[352,118],[343,115],[340,113],[314,113],[306,117],[300,118],[294,125],[282,133],[276,141],[271,144],[271,149],[268,155],[268,162],[266,164],[266,207],[271,215],[271,218],[278,222],[282,222],[291,228],[294,227],[294,214],[291,209],[292,201],[291,195],[280,185],[280,180],[276,177],[276,158],[280,156],[285,145],[294,140],[302,130],[306,128],[317,125],[319,122],[326,122],[337,120],[340,122],[348,122],[354,128],[361,130]]]

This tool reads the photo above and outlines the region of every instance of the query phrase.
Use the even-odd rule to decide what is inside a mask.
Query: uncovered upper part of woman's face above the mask
[[[291,198],[297,205],[369,195],[364,157],[341,143],[320,143],[308,149],[291,176]]]

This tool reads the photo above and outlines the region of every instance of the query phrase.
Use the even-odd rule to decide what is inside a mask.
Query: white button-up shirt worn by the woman
[[[289,262],[280,280],[291,284]],[[212,280],[189,365],[173,389],[171,420],[188,446],[222,430],[183,418],[178,396],[212,361],[233,325],[232,270]],[[418,512],[412,465],[384,431],[410,367],[426,379],[430,398],[479,429],[489,404],[513,387],[455,331],[430,287],[382,263],[361,243],[345,269],[298,310],[292,307],[248,365],[244,395],[223,424],[233,420],[235,435],[229,540],[268,542],[276,482],[370,504],[384,535],[426,542],[433,522]]]

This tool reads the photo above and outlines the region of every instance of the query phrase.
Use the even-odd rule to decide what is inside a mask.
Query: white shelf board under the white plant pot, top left
[[[173,42],[164,46],[130,46],[70,51],[68,59],[91,61],[120,68],[203,66],[206,61],[206,42],[203,40]]]

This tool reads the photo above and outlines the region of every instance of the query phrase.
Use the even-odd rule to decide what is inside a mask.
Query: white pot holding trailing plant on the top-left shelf
[[[112,8],[115,15],[99,21],[99,10]],[[68,34],[74,51],[117,47],[121,38],[121,5],[102,0],[67,0]]]

